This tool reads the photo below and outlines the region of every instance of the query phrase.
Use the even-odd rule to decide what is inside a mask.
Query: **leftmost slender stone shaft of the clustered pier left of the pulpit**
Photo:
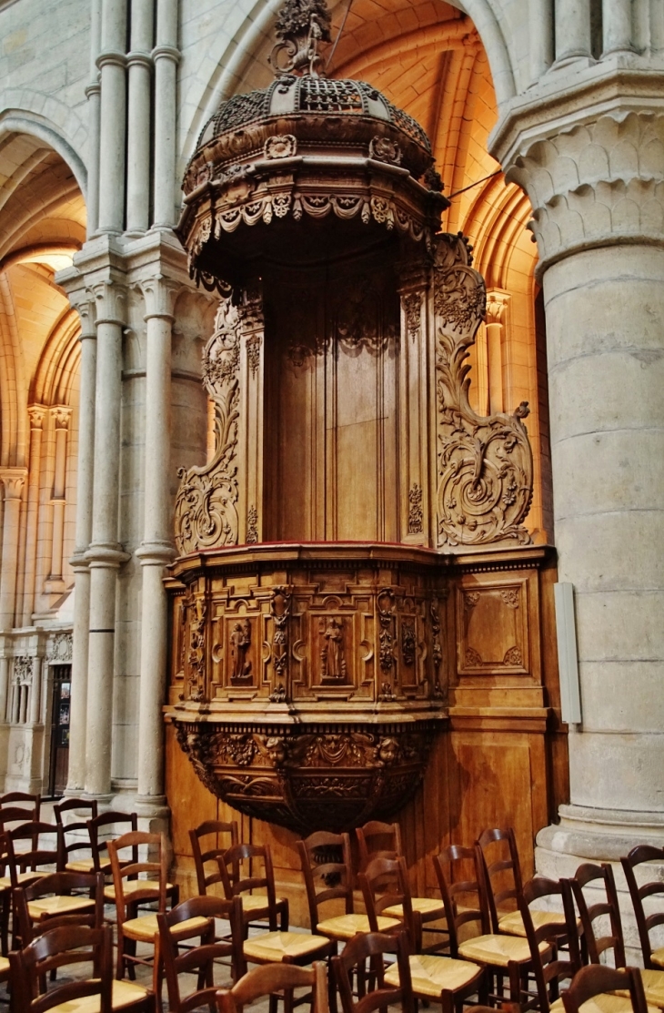
[[[88,652],[90,626],[90,569],[85,553],[92,538],[92,484],[94,476],[94,391],[97,361],[94,304],[82,299],[74,303],[81,318],[81,367],[79,393],[78,473],[76,499],[76,547],[70,560],[74,570],[74,630],[72,648],[72,697],[69,725],[69,772],[67,793],[76,795],[85,787],[85,749],[88,698]]]

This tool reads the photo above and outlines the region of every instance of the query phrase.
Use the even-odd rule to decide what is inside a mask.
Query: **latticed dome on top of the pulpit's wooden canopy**
[[[267,88],[234,95],[223,102],[203,129],[196,150],[229,131],[269,116],[331,113],[371,116],[392,124],[429,154],[431,145],[420,125],[365,81],[283,75]]]

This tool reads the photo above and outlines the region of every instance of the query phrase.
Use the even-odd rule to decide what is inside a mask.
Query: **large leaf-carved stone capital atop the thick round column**
[[[595,78],[515,103],[493,138],[505,178],[532,205],[540,275],[581,250],[664,246],[664,78]]]

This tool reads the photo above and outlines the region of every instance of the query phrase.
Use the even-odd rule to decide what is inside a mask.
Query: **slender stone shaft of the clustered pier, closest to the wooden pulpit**
[[[164,722],[168,611],[164,566],[174,557],[170,489],[171,330],[179,285],[164,278],[141,286],[146,301],[146,424],[144,539],[141,559],[141,686],[139,702],[138,811],[163,814]]]

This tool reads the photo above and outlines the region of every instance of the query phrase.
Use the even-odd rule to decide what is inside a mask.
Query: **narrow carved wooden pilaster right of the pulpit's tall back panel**
[[[401,537],[411,545],[431,545],[428,445],[428,347],[425,260],[401,271],[401,346],[399,354]]]

